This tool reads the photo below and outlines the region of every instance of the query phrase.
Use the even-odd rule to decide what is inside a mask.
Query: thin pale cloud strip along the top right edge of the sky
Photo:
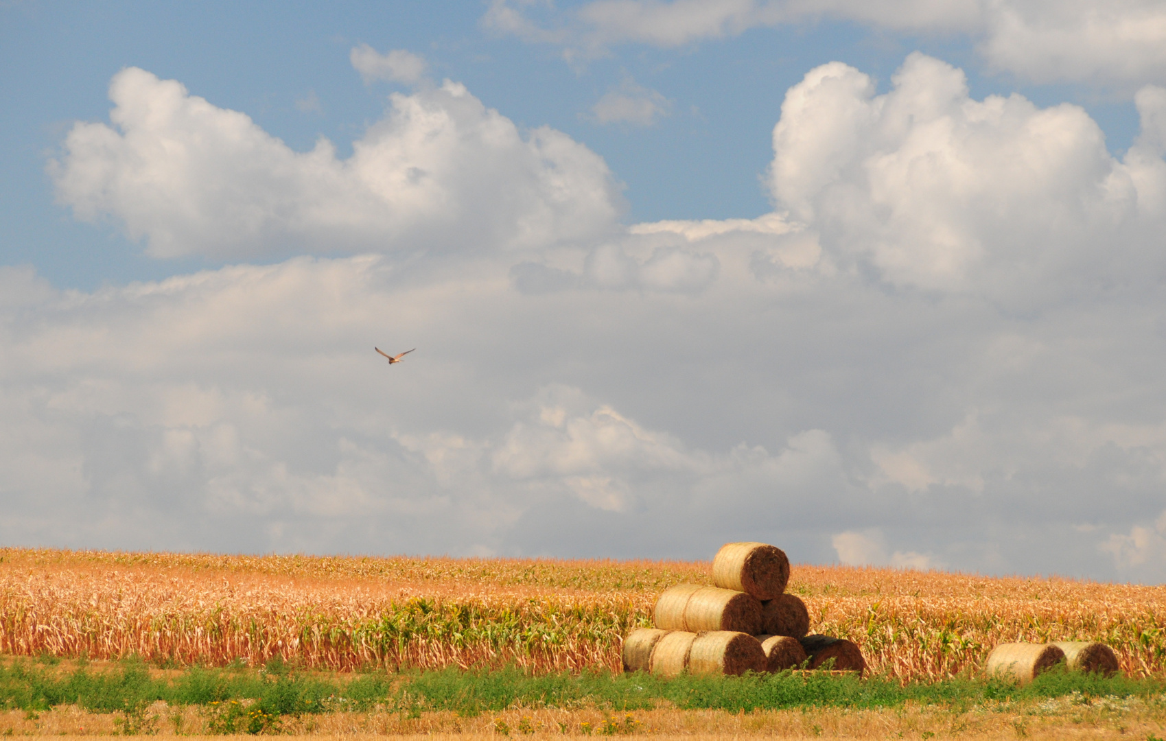
[[[483,22],[499,33],[563,45],[568,57],[598,56],[619,43],[677,47],[751,28],[851,21],[912,34],[964,34],[985,62],[1038,83],[1121,87],[1166,83],[1166,8],[1154,0],[1098,5],[1042,0],[593,0],[532,15],[494,0]]]

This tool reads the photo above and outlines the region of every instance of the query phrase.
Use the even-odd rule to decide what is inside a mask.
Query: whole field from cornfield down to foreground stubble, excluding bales
[[[637,699],[621,637],[682,581],[708,583],[709,564],[0,549],[0,733],[1166,738],[1164,587],[795,565],[812,630],[857,642],[873,679],[682,678]],[[1056,640],[1105,641],[1126,679],[979,677],[996,643]],[[62,690],[94,677],[105,700]],[[255,720],[276,700],[174,694],[246,677],[317,705]],[[480,685],[463,699],[503,680],[560,689],[426,699],[427,682],[457,677]],[[335,705],[347,690],[322,694],[332,685],[391,701]]]

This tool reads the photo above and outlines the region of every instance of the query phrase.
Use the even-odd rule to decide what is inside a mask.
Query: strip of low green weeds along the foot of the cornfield
[[[461,671],[447,669],[406,673],[368,672],[350,677],[293,671],[279,663],[254,671],[241,666],[192,668],[150,672],[141,662],[120,662],[107,671],[82,664],[62,671],[52,662],[14,661],[0,668],[0,707],[43,711],[78,705],[127,717],[156,700],[171,706],[196,705],[216,712],[227,726],[262,729],[281,715],[333,711],[371,711],[417,715],[452,711],[478,715],[507,708],[585,708],[635,711],[658,706],[681,710],[751,712],[789,707],[897,707],[906,703],[970,707],[984,703],[1044,700],[1072,696],[1160,698],[1157,679],[1104,678],[1068,671],[1041,675],[1026,686],[974,678],[901,685],[873,677],[859,680],[829,675],[749,675],[680,677],[649,675],[526,673],[520,669]]]

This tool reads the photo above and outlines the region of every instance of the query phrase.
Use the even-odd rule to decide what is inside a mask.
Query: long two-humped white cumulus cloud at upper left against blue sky
[[[600,157],[524,135],[451,82],[391,96],[347,160],[140,69],[110,98],[112,126],[73,126],[49,171],[78,218],[111,218],[157,257],[526,248],[604,234],[620,211]]]

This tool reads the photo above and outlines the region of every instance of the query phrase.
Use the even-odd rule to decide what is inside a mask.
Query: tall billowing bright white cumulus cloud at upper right
[[[1164,181],[1150,144],[1115,160],[1081,108],[974,100],[962,71],[918,52],[892,83],[876,96],[858,70],[819,66],[788,91],[773,130],[774,199],[841,266],[1009,303],[1031,302],[1038,283],[1080,296],[1115,269],[1136,280],[1132,262],[1161,269]],[[1139,93],[1147,121],[1158,90]]]

